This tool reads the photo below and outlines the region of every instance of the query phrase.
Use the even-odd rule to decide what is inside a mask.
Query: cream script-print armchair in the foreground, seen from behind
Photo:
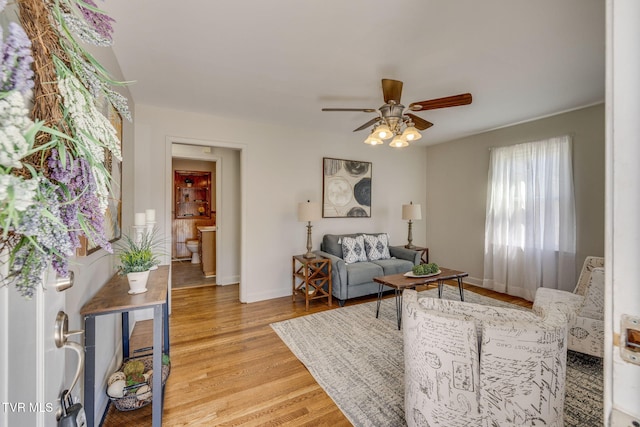
[[[567,319],[404,291],[413,426],[563,426]]]

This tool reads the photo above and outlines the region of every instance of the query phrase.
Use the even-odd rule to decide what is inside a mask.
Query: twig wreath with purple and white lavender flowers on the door
[[[31,298],[49,266],[68,276],[80,236],[112,252],[105,159],[121,159],[120,141],[97,103],[131,115],[77,40],[110,46],[112,18],[93,0],[17,5],[22,26],[0,28],[0,285]]]

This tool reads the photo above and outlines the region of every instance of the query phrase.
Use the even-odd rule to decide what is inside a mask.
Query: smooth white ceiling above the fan
[[[378,108],[470,92],[417,113],[435,144],[604,100],[604,0],[107,0],[136,103],[351,131]]]

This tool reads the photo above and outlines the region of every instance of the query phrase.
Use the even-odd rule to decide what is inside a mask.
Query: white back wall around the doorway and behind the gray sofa
[[[313,133],[251,121],[231,120],[136,105],[136,208],[154,207],[158,223],[167,224],[154,200],[165,194],[167,137],[219,141],[243,147],[241,216],[244,262],[238,267],[243,302],[291,294],[291,256],[304,253],[305,224],[296,218],[298,202],[322,199],[322,158],[372,162],[371,218],[322,219],[313,224],[314,249],[324,233],[386,231],[392,244],[405,244],[407,224],[401,206],[413,200],[424,204],[425,149],[395,150],[362,143],[365,133],[340,130]],[[224,166],[223,166],[224,167]],[[223,186],[222,191],[225,191]],[[424,244],[424,221],[414,224],[414,243]],[[163,230],[170,235],[170,230]]]

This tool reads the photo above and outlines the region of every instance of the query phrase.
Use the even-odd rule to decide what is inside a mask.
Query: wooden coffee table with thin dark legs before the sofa
[[[378,306],[376,308],[376,319],[380,313],[380,302],[382,302],[382,289],[387,286],[393,288],[396,296],[396,316],[398,319],[398,330],[402,327],[402,291],[405,289],[415,289],[416,286],[429,285],[430,283],[438,284],[438,298],[442,298],[442,287],[445,280],[457,280],[458,290],[460,291],[460,301],[464,301],[464,288],[462,286],[462,278],[467,277],[469,273],[464,271],[452,270],[450,268],[440,267],[440,273],[432,276],[412,277],[404,274],[392,274],[389,276],[374,277],[373,281],[379,284],[378,288]]]

